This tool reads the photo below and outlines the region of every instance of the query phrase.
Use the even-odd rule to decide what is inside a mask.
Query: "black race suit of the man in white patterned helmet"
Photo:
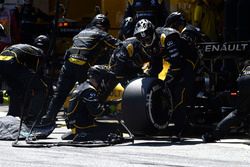
[[[175,133],[179,135],[186,122],[185,106],[193,99],[194,69],[197,52],[172,28],[156,29],[155,50],[170,63],[165,83],[172,92]],[[187,98],[188,97],[188,98]]]

